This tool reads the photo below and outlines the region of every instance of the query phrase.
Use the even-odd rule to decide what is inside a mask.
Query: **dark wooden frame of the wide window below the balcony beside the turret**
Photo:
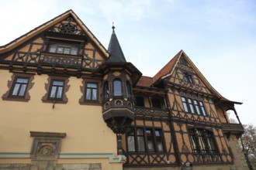
[[[142,130],[143,134],[138,134],[137,131],[138,130]],[[152,135],[149,137],[147,136],[147,131],[151,131]],[[160,134],[160,138],[156,136],[156,131],[159,132]],[[128,143],[128,138],[129,137],[133,137],[133,147],[134,150],[130,151],[129,148],[129,143]],[[139,140],[138,138],[141,138],[141,140]],[[149,149],[149,138],[151,138],[152,141],[152,146],[154,150]],[[141,141],[141,144],[143,146],[139,146],[139,141]],[[158,142],[157,141],[161,141],[161,148],[162,150],[160,150],[157,146]],[[144,148],[144,149],[141,149]],[[161,128],[152,128],[152,127],[133,127],[130,128],[130,131],[128,131],[126,133],[126,151],[130,152],[130,153],[164,153],[166,151],[165,148],[165,143],[164,143],[164,134],[163,134],[163,130]]]

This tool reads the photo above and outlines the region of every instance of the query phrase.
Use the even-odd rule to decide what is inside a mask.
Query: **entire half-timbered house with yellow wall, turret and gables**
[[[182,50],[142,76],[69,10],[1,46],[0,75],[0,169],[248,169],[241,103]]]

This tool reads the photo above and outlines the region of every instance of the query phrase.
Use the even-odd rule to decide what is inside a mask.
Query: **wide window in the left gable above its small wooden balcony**
[[[50,53],[77,55],[78,47],[70,45],[70,44],[65,44],[65,43],[54,43],[54,44],[50,45],[49,52]]]

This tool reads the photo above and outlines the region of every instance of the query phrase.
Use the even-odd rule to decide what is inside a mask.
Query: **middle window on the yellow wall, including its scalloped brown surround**
[[[68,77],[50,76],[48,83],[45,84],[47,93],[42,97],[42,101],[46,103],[67,103],[67,90],[69,89]]]

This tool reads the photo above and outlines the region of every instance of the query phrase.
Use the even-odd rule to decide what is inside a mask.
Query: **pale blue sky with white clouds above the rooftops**
[[[243,102],[242,124],[256,126],[255,0],[2,1],[0,46],[69,9],[106,49],[114,22],[126,60],[144,76],[183,49],[223,97]]]

